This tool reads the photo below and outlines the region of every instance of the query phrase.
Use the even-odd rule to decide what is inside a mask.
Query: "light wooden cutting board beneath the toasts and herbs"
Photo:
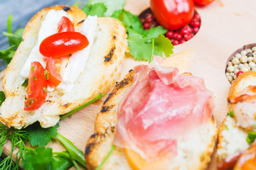
[[[215,110],[213,115],[220,125],[228,111],[226,97],[230,84],[225,77],[225,65],[228,57],[242,47],[256,42],[256,13],[251,6],[255,0],[215,0],[206,7],[196,7],[201,15],[201,28],[194,38],[181,45],[174,47],[174,52],[180,52],[189,48],[195,48],[193,58],[188,72],[202,77],[206,86],[214,93]],[[134,14],[141,13],[149,7],[149,0],[127,0],[125,9]],[[146,63],[134,61],[131,57],[124,60],[121,80],[129,69],[135,65]],[[3,72],[0,74],[2,80]],[[79,149],[85,151],[87,139],[94,132],[94,122],[97,113],[100,111],[102,102],[93,103],[87,108],[75,113],[72,118],[65,118],[60,121],[58,132],[71,140]],[[10,152],[10,142],[4,146],[4,154]],[[60,142],[53,140],[48,147],[54,152],[64,150]],[[216,159],[208,167],[209,170],[216,169]]]

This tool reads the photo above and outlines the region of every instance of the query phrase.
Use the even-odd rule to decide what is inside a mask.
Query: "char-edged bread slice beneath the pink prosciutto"
[[[163,63],[175,63],[175,65],[171,66],[178,68],[181,66],[184,69],[182,62],[171,62],[171,60],[178,61],[176,57],[188,58],[183,54],[188,55],[189,52],[178,53],[174,55],[174,59],[169,57]],[[117,129],[117,108],[126,91],[132,86],[133,80],[134,71],[129,72],[122,81],[114,86],[113,91],[103,103],[102,109],[95,120],[95,133],[90,137],[86,145],[85,161],[88,169],[96,169],[110,152]],[[218,130],[212,118],[206,125],[202,125],[198,130],[194,130],[186,137],[178,140],[177,156],[168,160],[164,168],[158,167],[157,169],[206,169],[210,162],[210,155],[215,147],[217,133]],[[124,149],[115,147],[101,169],[128,170],[132,169],[132,167],[129,165]],[[151,169],[155,169],[155,167],[151,167]]]

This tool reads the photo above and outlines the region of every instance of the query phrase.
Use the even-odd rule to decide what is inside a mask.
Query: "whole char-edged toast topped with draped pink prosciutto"
[[[206,169],[218,132],[213,94],[203,79],[178,74],[174,67],[182,64],[172,65],[172,57],[156,59],[134,67],[103,103],[86,145],[89,169],[96,169],[113,145],[101,169]]]

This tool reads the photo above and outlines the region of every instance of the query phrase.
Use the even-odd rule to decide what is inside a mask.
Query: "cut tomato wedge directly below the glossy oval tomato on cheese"
[[[52,86],[58,86],[62,81],[60,74],[64,72],[68,63],[69,56],[49,57],[46,62],[46,70],[48,72],[48,83]]]

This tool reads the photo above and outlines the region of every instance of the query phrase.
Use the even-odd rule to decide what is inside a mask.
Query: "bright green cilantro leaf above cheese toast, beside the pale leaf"
[[[84,11],[87,14],[87,16],[90,15],[90,16],[102,17],[102,16],[105,16],[107,7],[103,3],[97,3],[97,4],[86,3],[85,6],[82,8],[82,11]]]

